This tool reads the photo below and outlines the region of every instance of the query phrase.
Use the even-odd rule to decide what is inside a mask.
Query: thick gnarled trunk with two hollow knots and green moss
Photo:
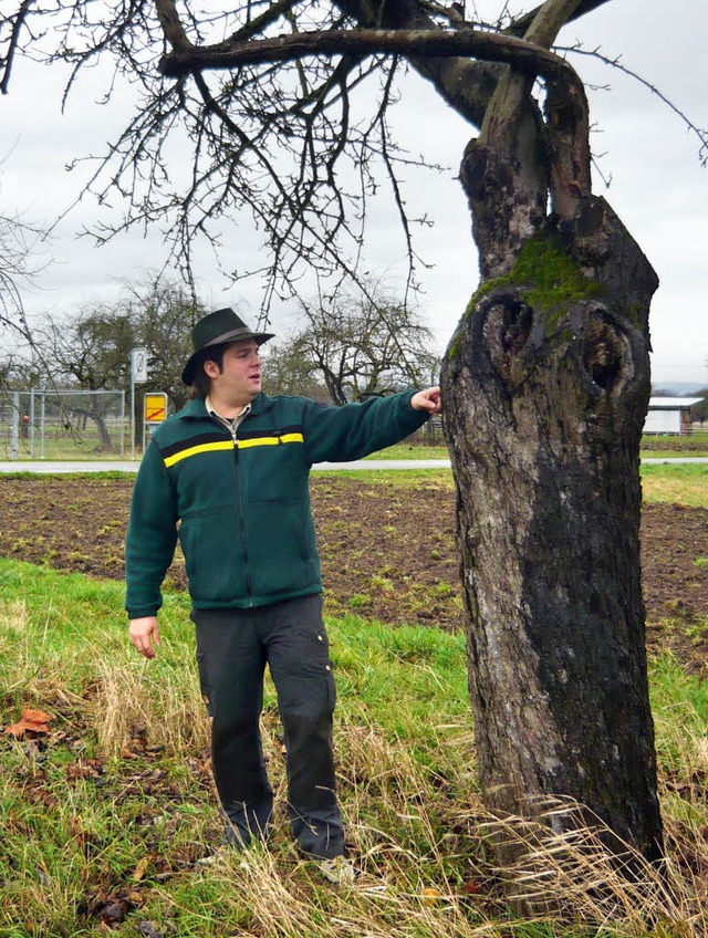
[[[601,198],[510,233],[506,171],[468,147],[482,283],[442,369],[483,796],[527,817],[570,796],[654,859],[638,466],[657,279]]]

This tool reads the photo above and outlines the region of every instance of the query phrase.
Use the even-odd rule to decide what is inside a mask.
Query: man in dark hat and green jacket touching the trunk
[[[346,882],[332,754],[334,678],[322,623],[310,509],[313,462],[397,442],[440,410],[439,388],[344,407],[261,392],[259,347],[230,309],[200,320],[183,381],[194,397],[153,435],[126,539],[131,640],[159,645],[160,584],[177,538],[185,554],[214,775],[227,840],[268,836],[272,790],[259,717],[270,668],[284,729],[288,811],[300,848]]]

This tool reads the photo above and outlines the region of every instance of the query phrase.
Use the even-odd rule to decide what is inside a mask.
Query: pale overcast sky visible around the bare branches
[[[0,6],[10,0],[0,0]],[[468,0],[468,4],[470,0]],[[518,6],[528,9],[527,6]],[[500,0],[477,0],[480,15],[491,18]],[[602,48],[608,58],[654,83],[699,127],[708,128],[708,4],[676,0],[667,14],[666,0],[611,0],[605,7],[569,25],[559,44],[581,41]],[[469,12],[469,8],[468,8]],[[594,60],[573,56],[586,82],[610,85],[590,91],[596,126],[593,150],[603,154],[600,167],[610,189],[596,176],[595,191],[604,195],[639,242],[660,280],[652,306],[653,381],[708,385],[708,170],[701,168],[697,138],[659,98],[615,70]],[[0,198],[4,213],[22,211],[28,221],[49,225],[74,200],[79,178],[65,165],[75,157],[97,154],[115,137],[125,118],[119,100],[113,107],[94,105],[88,83],[60,113],[61,87],[52,87],[46,70],[19,63],[10,94],[0,100]],[[435,226],[424,229],[419,253],[433,268],[420,271],[421,306],[440,348],[445,346],[478,282],[477,254],[466,201],[456,180],[470,128],[421,81],[410,76],[397,106],[398,136],[412,154],[448,166],[439,174],[410,173],[406,199],[412,216],[427,215]],[[116,202],[114,211],[119,212]],[[400,283],[403,244],[391,207],[373,207],[367,260],[391,288]],[[164,260],[157,231],[122,236],[96,249],[76,231],[101,217],[91,201],[82,202],[56,228],[50,253],[54,262],[25,292],[31,313],[112,299],[121,280],[135,280]],[[241,265],[252,252],[252,236],[229,234],[221,261]],[[260,294],[256,284],[229,289],[207,251],[198,269],[199,289],[208,305],[233,305],[239,300],[256,319]],[[292,304],[273,309],[275,330],[287,331]]]

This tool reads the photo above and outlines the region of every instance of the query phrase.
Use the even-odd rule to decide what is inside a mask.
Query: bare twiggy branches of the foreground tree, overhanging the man
[[[408,283],[415,283],[421,261],[397,173],[405,157],[388,132],[398,58],[434,81],[470,121],[489,98],[496,62],[573,80],[570,66],[546,50],[465,23],[446,29],[441,13],[403,0],[385,9],[368,0],[316,8],[305,0],[242,2],[199,15],[175,0],[119,0],[110,18],[103,12],[85,0],[62,0],[59,9],[25,0],[0,25],[6,77],[11,58],[31,51],[71,65],[65,96],[82,70],[106,55],[115,72],[105,100],[117,75],[137,79],[136,115],[105,156],[95,158],[86,186],[102,204],[117,191],[128,208],[121,221],[98,221],[92,233],[105,241],[125,228],[157,223],[171,261],[194,282],[195,236],[206,236],[218,250],[217,229],[229,218],[242,225],[246,210],[271,262],[241,262],[229,272],[263,278],[264,312],[273,299],[296,291],[303,264],[323,275],[339,270],[365,291],[356,268],[366,205],[381,186],[376,164],[402,222]],[[50,24],[51,31],[44,29]],[[227,39],[209,41],[219,33]],[[170,51],[160,67],[165,75],[179,73],[169,85],[155,69],[165,44]],[[208,84],[207,70],[214,75]],[[377,73],[377,116],[366,122],[358,102]],[[167,169],[175,139],[192,147],[188,173]]]

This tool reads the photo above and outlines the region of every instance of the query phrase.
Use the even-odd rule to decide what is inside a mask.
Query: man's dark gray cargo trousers
[[[192,609],[191,618],[229,840],[246,845],[267,837],[271,827],[273,792],[260,733],[268,664],[284,730],[293,835],[308,855],[340,856],[343,826],[332,754],[335,688],[322,597],[250,609]]]

